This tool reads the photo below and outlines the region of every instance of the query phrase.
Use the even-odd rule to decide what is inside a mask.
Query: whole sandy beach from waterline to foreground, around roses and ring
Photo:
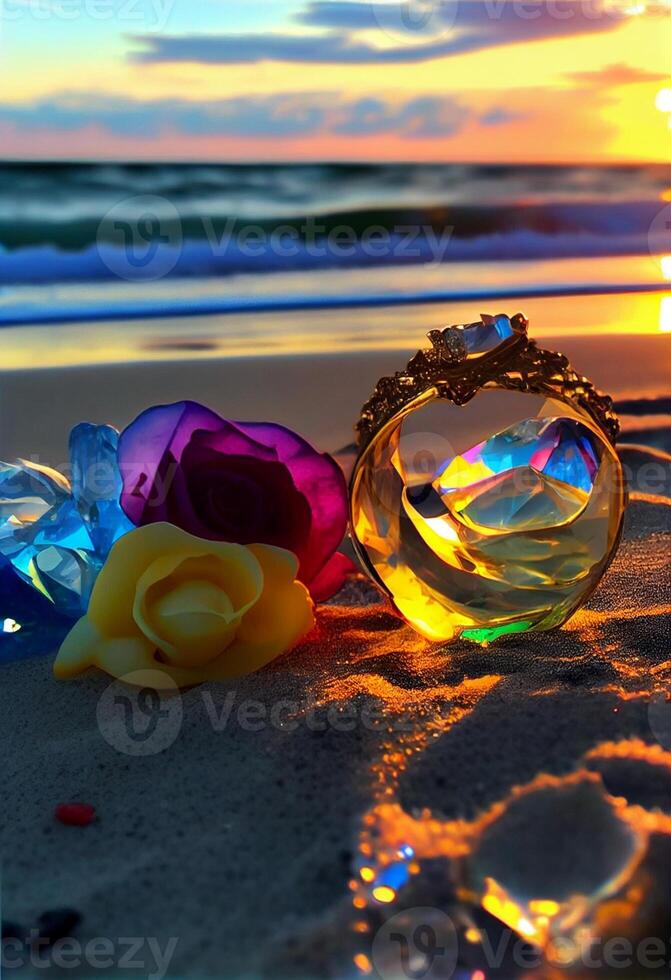
[[[17,975],[401,980],[391,937],[412,952],[430,928],[447,952],[426,976],[545,980],[558,976],[550,919],[578,980],[594,976],[586,935],[659,937],[671,961],[671,348],[650,320],[640,334],[561,332],[571,301],[550,309],[539,342],[615,398],[632,490],[610,570],[558,632],[431,644],[358,576],[294,651],[154,711],[95,672],[57,682],[68,622],[0,572],[0,617],[22,627],[0,634],[0,661],[13,661],[0,694],[2,914],[19,934]],[[273,317],[274,336],[294,330],[290,349],[249,316],[199,320],[200,350],[182,322],[161,324],[160,343],[155,327],[125,324],[125,363],[105,359],[104,333],[10,332],[24,348],[10,345],[18,361],[0,372],[2,456],[65,468],[76,422],[122,428],[190,398],[284,423],[349,472],[360,405],[449,314],[333,313],[321,341],[307,317]],[[374,340],[360,349],[366,317]],[[39,366],[40,329],[66,359],[78,336],[82,363],[56,353]],[[95,821],[56,822],[67,802],[94,806]],[[30,930],[63,908],[73,914],[36,965]],[[56,934],[74,944],[65,965]],[[531,972],[520,949],[535,950]],[[600,975],[623,975],[609,963]]]

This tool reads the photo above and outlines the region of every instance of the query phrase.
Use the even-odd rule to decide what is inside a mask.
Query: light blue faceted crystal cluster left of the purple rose
[[[36,463],[0,462],[0,556],[69,616],[86,611],[110,548],[133,528],[119,504],[118,440],[109,425],[75,426],[71,484]]]

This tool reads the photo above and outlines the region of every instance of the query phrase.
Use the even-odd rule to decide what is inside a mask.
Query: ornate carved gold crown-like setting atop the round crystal
[[[482,315],[481,322],[492,319]],[[439,397],[455,405],[465,405],[486,385],[546,392],[573,402],[590,414],[614,444],[620,423],[612,398],[577,374],[564,354],[538,347],[528,336],[529,322],[523,314],[511,317],[510,324],[513,335],[480,355],[467,353],[462,326],[432,330],[428,334],[430,348],[417,351],[405,371],[378,381],[356,426],[360,448],[363,450],[381,426],[428,389],[435,388]]]

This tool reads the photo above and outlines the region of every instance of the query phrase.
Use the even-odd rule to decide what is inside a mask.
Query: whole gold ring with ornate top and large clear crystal
[[[560,626],[617,549],[626,489],[608,395],[518,313],[432,330],[362,411],[356,551],[433,640]]]

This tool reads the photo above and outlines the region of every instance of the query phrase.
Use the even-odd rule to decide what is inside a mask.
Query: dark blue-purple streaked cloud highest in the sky
[[[421,17],[404,21],[403,4],[326,0],[309,4],[297,17],[321,33],[136,35],[132,39],[144,50],[131,58],[226,65],[414,64],[506,44],[599,33],[625,18],[621,8],[604,6],[601,0],[443,0],[430,9],[424,23]]]

